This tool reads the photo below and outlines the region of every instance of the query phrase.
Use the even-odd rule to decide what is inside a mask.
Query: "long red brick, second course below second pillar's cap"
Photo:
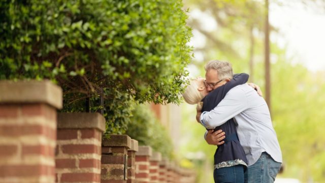
[[[62,145],[62,152],[65,154],[100,154],[101,147],[93,144],[68,144]]]

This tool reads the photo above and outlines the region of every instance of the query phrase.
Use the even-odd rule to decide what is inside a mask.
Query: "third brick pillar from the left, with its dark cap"
[[[127,149],[131,138],[127,135],[109,135],[102,141],[102,183],[126,183]]]

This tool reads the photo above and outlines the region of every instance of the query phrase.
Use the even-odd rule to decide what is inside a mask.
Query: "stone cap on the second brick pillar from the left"
[[[105,132],[105,118],[94,113],[57,113],[58,129],[98,129]]]

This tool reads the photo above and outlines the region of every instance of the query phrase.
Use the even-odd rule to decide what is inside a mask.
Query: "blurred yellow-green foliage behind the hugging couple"
[[[315,6],[316,2],[319,3],[298,3]],[[283,6],[281,1],[270,3]],[[317,6],[324,10],[323,3]],[[184,7],[189,8],[188,25],[193,28],[194,35],[191,40],[194,59],[188,66],[192,76],[204,77],[204,65],[211,59],[227,60],[232,63],[235,73],[249,73],[249,80],[265,91],[265,2],[186,0]],[[279,35],[278,27],[271,24],[270,29],[271,37]],[[325,72],[309,71],[294,62],[294,58],[287,58],[286,47],[280,47],[274,41],[270,44],[271,111],[284,162],[284,171],[278,177],[325,182],[325,123],[322,122],[325,116]],[[181,153],[192,159],[200,172],[199,182],[213,182],[213,170],[209,167],[212,167],[216,148],[207,145],[203,139],[205,129],[195,120],[195,106],[182,104],[181,107]]]

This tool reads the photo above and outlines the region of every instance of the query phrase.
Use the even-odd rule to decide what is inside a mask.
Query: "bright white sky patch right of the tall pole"
[[[270,23],[280,31],[271,39],[287,46],[293,63],[302,63],[310,71],[325,71],[325,11],[298,2],[270,4]]]

